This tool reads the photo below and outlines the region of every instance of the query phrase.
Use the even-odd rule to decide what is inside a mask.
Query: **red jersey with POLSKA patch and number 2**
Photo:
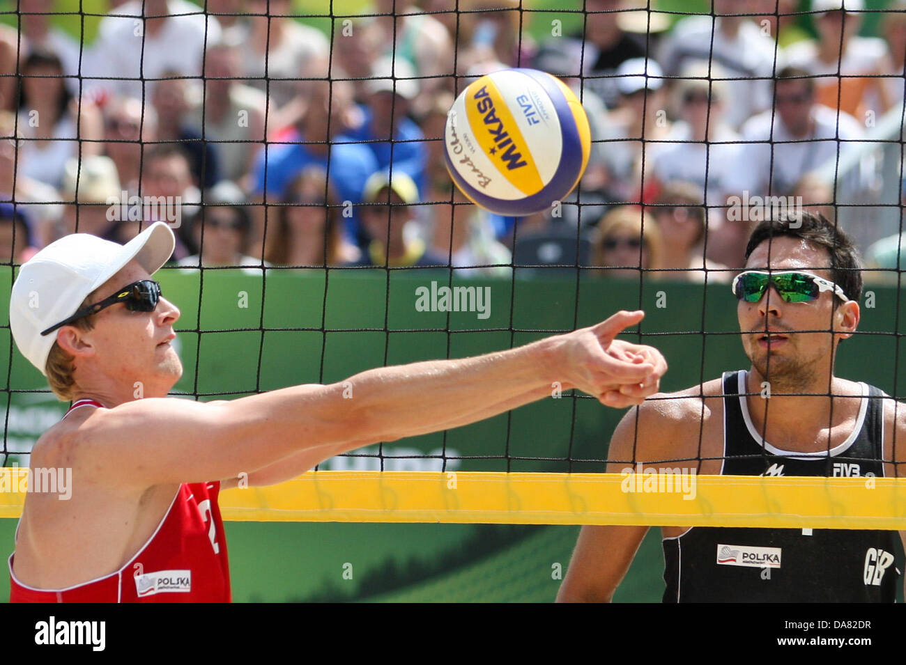
[[[101,406],[90,400],[72,404]],[[69,412],[67,412],[68,414]],[[65,416],[64,416],[65,417]],[[148,542],[119,570],[65,589],[20,583],[9,557],[11,603],[229,603],[220,483],[183,483]]]

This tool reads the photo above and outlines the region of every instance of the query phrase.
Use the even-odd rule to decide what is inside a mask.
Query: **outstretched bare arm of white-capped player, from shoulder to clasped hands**
[[[82,423],[69,450],[95,477],[141,487],[251,475],[301,451],[313,452],[303,460],[310,468],[362,445],[503,413],[549,394],[554,381],[603,404],[639,404],[656,392],[666,363],[653,348],[613,338],[642,317],[620,312],[592,328],[508,351],[381,367],[338,384],[232,402],[120,404]]]

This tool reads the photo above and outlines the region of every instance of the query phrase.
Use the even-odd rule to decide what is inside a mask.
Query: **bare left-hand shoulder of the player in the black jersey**
[[[720,379],[676,393],[653,394],[626,413],[613,433],[608,457],[620,461],[698,460],[722,444]]]

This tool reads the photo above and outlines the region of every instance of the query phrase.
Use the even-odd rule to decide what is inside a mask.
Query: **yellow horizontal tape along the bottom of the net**
[[[23,477],[0,470],[0,518],[21,514]],[[906,529],[906,479],[317,471],[228,489],[220,507],[234,521]]]

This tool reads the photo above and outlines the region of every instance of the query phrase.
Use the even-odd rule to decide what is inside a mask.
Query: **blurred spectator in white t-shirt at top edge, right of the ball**
[[[726,71],[727,122],[732,128],[770,107],[770,79],[783,67],[775,41],[743,15],[759,11],[757,0],[714,0],[716,19],[684,18],[658,52],[668,76],[677,76],[693,62],[718,64]]]

